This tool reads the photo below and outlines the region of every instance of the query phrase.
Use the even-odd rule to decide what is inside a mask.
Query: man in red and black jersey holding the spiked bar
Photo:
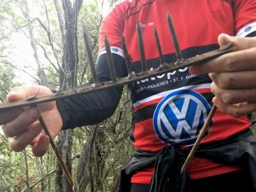
[[[110,80],[105,35],[118,77],[127,75],[122,36],[133,58],[133,71],[141,71],[137,21],[142,27],[148,69],[160,65],[154,28],[159,33],[165,62],[175,62],[166,13],[172,16],[184,58],[218,49],[224,43],[232,43],[236,52],[129,85],[136,155],[121,173],[120,191],[256,190],[255,139],[247,117],[256,110],[256,38],[252,37],[256,34],[256,1],[120,1],[100,28],[96,65],[99,79]],[[235,35],[241,37],[230,37]],[[61,128],[96,124],[108,118],[116,109],[121,92],[118,87],[3,113],[0,124],[4,124],[7,136],[15,136],[10,143],[14,151],[32,145],[33,153],[41,156],[47,151],[49,139],[36,121],[39,113],[54,137]],[[7,98],[17,101],[47,94],[50,90],[45,87],[30,86],[13,89]],[[178,167],[197,139],[212,104],[218,110],[209,135],[188,167],[187,179],[187,174],[178,174]]]

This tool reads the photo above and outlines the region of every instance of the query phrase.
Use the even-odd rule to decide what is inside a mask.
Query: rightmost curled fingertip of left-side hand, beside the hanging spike
[[[41,136],[38,138],[38,141],[33,142],[31,144],[32,152],[35,155],[35,157],[43,156],[49,148],[49,143],[50,143],[49,136],[41,134]]]

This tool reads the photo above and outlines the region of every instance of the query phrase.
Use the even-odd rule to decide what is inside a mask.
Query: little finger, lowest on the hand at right
[[[218,98],[213,98],[212,102],[218,107],[222,113],[232,115],[233,117],[240,117],[248,115],[256,110],[256,104],[241,103],[241,104],[225,104]]]

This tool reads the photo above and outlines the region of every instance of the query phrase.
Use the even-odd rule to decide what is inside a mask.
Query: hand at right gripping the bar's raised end
[[[209,74],[213,104],[233,117],[256,111],[256,37],[221,34],[219,45],[232,43],[236,52],[221,55],[203,65],[190,67],[191,74]]]

